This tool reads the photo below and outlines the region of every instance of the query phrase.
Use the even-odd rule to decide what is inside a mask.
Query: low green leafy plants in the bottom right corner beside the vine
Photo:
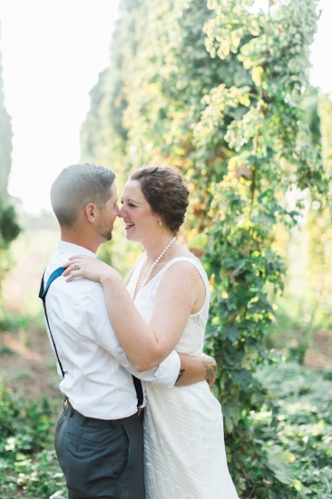
[[[332,484],[331,380],[276,359],[253,377],[266,396],[259,410],[250,411],[246,438],[238,432],[237,452],[230,453],[233,473],[239,470],[239,496],[327,499]]]

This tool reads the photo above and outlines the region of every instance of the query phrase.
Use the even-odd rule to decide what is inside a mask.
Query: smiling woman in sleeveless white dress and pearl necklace
[[[209,281],[200,261],[176,239],[188,196],[181,175],[169,167],[135,171],[123,190],[120,217],[126,238],[141,242],[145,252],[125,281],[128,290],[115,269],[92,258],[73,257],[63,274],[67,280],[83,276],[101,282],[113,328],[135,365],[147,356],[158,365],[173,349],[202,353]],[[147,498],[238,498],[226,461],[220,403],[209,385],[147,384],[146,394]]]

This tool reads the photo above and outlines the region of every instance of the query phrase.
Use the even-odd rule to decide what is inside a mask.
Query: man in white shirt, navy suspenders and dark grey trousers
[[[95,256],[112,239],[119,213],[114,173],[92,163],[65,168],[55,179],[51,201],[61,229],[42,289],[54,270],[74,254]],[[138,378],[158,386],[188,385],[212,378],[215,363],[179,355],[139,372],[112,329],[99,283],[58,273],[44,298],[47,331],[63,374],[66,396],[54,446],[69,499],[143,499],[142,407]],[[208,362],[207,362],[208,360]],[[142,398],[142,400],[140,400]]]

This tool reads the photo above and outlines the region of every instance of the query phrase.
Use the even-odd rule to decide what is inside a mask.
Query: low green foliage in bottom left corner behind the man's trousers
[[[0,495],[48,499],[61,491],[63,474],[53,448],[54,406],[46,397],[17,398],[0,386]]]

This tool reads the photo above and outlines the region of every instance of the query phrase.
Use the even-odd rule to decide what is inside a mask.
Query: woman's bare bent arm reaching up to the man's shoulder
[[[69,265],[63,276],[68,281],[83,276],[101,282],[112,327],[136,369],[145,371],[158,366],[175,349],[188,322],[197,289],[202,285],[197,270],[188,262],[171,265],[167,279],[161,279],[158,298],[146,324],[117,270],[91,257],[74,257],[73,261],[79,269]]]

